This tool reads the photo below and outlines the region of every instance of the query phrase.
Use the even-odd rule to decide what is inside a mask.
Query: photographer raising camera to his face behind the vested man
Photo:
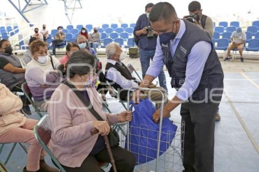
[[[209,33],[210,37],[212,38],[213,31],[214,31],[212,19],[209,16],[202,14],[200,2],[198,1],[191,2],[188,6],[188,10],[190,15],[184,16],[183,19],[186,19],[189,22],[197,24],[198,26],[206,30]]]

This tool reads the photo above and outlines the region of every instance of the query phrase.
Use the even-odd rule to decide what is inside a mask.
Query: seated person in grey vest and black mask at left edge
[[[12,46],[8,40],[0,40],[0,82],[5,84],[12,92],[23,92],[22,84],[25,82],[25,69],[20,60],[13,55]],[[23,101],[22,111],[31,115],[29,103],[25,95],[21,95]]]

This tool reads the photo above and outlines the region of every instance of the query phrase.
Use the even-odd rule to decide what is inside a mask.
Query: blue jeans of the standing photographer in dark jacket
[[[140,55],[140,64],[141,64],[141,69],[142,69],[142,78],[144,78],[147,69],[150,64],[150,60],[153,60],[153,57],[155,55],[155,50],[143,50],[139,49],[139,55]],[[166,92],[166,79],[165,79],[165,73],[163,69],[161,70],[160,74],[158,75],[158,80],[159,80],[159,86],[163,87]]]

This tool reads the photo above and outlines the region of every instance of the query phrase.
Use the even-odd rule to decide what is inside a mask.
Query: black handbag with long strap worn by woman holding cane
[[[86,106],[86,107],[90,107],[89,110],[90,112],[94,115],[94,117],[98,120],[98,121],[104,121],[101,116],[94,110],[94,107],[93,105],[91,104],[91,102],[87,101],[83,95],[80,93],[79,90],[76,89],[76,87],[73,85],[73,84],[69,84],[68,81],[65,81],[63,84],[66,84],[69,88],[71,88],[74,93],[77,95],[77,97],[83,102],[83,104]],[[116,147],[116,146],[119,146],[119,135],[118,133],[111,128],[109,134],[108,134],[108,140],[109,140],[109,143],[110,143],[110,146],[111,147]]]

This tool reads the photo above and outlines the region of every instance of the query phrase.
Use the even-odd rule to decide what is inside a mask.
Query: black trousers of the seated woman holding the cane
[[[135,156],[129,151],[117,146],[112,148],[112,155],[118,172],[132,172],[135,167]],[[98,162],[110,162],[107,149],[101,150],[96,155],[89,155],[82,163],[81,167],[71,168],[63,166],[67,172],[103,172],[98,166]],[[111,171],[112,168],[111,168]]]

